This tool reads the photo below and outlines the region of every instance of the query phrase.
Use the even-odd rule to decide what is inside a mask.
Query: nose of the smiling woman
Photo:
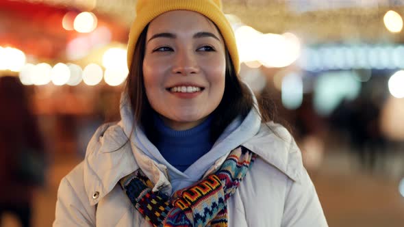
[[[177,51],[173,62],[173,73],[186,76],[197,74],[199,70],[197,56],[194,51]]]

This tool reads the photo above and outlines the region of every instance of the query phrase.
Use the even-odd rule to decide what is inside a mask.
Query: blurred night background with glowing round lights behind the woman
[[[61,178],[119,120],[135,3],[0,0],[0,226],[51,226]],[[404,226],[404,1],[223,5],[329,226]]]

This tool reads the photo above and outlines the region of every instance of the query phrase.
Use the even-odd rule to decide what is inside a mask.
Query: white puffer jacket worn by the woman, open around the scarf
[[[155,184],[154,190],[173,192],[174,184],[168,179],[175,181],[173,176],[183,173],[150,155],[153,152],[147,150],[150,144],[144,146],[145,137],[141,137],[141,144],[142,139],[132,135],[131,142],[125,144],[129,135],[126,127],[133,119],[129,107],[122,109],[121,122],[101,126],[88,144],[84,161],[62,179],[53,226],[151,226],[117,184],[138,168]],[[192,174],[199,168],[194,171],[199,175],[190,176],[188,181],[177,178],[175,189],[188,187],[214,172],[231,148],[242,145],[255,152],[257,159],[227,201],[229,226],[327,226],[301,152],[286,129],[272,122],[261,124],[253,110],[228,128],[206,157],[201,157],[205,160],[199,159],[184,172]],[[212,164],[207,160],[217,154],[215,149],[227,151]]]

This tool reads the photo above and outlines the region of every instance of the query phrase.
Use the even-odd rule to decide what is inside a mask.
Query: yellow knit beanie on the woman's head
[[[127,66],[130,68],[140,33],[154,18],[164,12],[173,10],[190,10],[199,12],[210,19],[220,30],[225,39],[227,50],[236,72],[240,70],[236,38],[231,25],[222,11],[220,0],[138,0],[136,18],[131,26],[127,45]]]

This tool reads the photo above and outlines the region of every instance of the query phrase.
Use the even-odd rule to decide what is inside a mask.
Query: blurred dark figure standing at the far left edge
[[[31,202],[44,182],[44,146],[18,77],[0,77],[0,219],[16,215],[31,226]]]

